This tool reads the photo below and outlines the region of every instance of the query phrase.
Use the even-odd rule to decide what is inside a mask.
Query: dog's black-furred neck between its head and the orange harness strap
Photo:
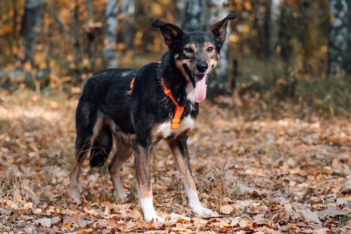
[[[164,80],[166,85],[175,99],[180,105],[187,105],[189,101],[194,103],[193,98],[189,98],[193,92],[191,83],[187,82],[187,78],[176,68],[174,58],[171,56],[171,51],[166,52],[160,61],[160,77]],[[191,85],[191,88],[189,88]],[[191,94],[189,94],[191,92]]]

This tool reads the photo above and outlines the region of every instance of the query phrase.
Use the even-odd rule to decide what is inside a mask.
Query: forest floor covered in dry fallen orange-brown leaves
[[[78,95],[0,91],[0,233],[350,233],[351,116],[300,118],[259,98],[200,104],[191,165],[209,217],[193,215],[171,153],[153,150],[153,202],[120,202],[106,166],[81,172],[83,205],[67,196]],[[286,106],[282,109],[293,109]],[[225,107],[224,107],[225,106]],[[134,159],[123,167],[136,193]]]

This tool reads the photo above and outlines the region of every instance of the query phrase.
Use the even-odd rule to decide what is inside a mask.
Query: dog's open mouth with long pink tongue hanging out
[[[201,103],[206,98],[208,74],[195,74],[187,66],[184,66],[184,69],[191,78],[191,83],[193,83],[195,102]]]

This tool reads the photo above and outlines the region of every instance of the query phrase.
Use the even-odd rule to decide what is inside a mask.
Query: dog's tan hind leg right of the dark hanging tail
[[[111,181],[114,184],[114,189],[120,200],[127,198],[127,193],[122,187],[120,182],[120,170],[122,169],[122,164],[125,162],[133,153],[133,136],[125,135],[121,132],[116,133],[116,153],[114,158],[112,158],[109,163],[109,175],[111,176]]]

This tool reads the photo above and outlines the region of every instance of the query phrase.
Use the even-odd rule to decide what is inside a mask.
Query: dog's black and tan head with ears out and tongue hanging
[[[207,83],[226,40],[226,26],[228,21],[236,17],[235,14],[228,14],[207,32],[183,32],[177,25],[160,19],[152,23],[153,27],[160,28],[164,43],[171,50],[178,69],[193,84],[197,103],[206,98]]]

